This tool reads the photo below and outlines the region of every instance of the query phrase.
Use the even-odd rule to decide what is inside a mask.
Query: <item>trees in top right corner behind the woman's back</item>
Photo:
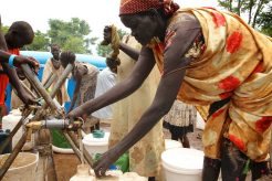
[[[218,0],[219,6],[238,15],[245,15],[248,24],[271,34],[271,0]]]

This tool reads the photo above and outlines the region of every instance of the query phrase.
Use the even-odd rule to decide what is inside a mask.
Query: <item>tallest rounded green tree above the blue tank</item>
[[[64,50],[75,53],[91,53],[91,44],[94,44],[97,38],[90,38],[91,29],[86,21],[79,18],[72,18],[65,22],[57,19],[49,20],[50,30],[48,31],[51,43],[59,44]]]

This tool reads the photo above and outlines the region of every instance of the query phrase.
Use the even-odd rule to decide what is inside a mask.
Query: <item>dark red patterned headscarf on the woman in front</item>
[[[166,15],[170,15],[179,9],[179,6],[172,0],[121,0],[119,15],[160,8],[164,9]]]

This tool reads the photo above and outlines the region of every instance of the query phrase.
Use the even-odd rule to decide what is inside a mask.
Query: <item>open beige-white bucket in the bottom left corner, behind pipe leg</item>
[[[1,155],[0,162],[4,163],[9,155]],[[35,181],[39,156],[30,152],[20,152],[2,181]]]

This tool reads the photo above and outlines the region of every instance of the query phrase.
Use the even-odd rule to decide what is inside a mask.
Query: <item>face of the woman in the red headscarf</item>
[[[132,35],[142,44],[146,45],[156,36],[158,25],[157,19],[153,15],[128,14],[122,15],[121,21],[132,30]]]

